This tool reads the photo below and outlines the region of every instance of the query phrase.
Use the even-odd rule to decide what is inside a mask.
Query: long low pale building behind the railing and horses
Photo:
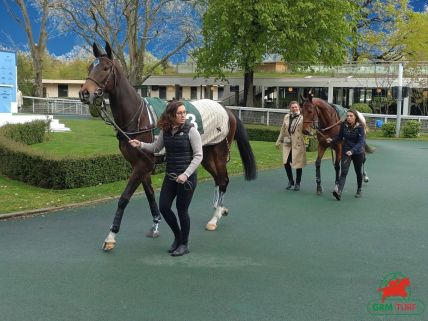
[[[276,63],[275,63],[276,64]],[[143,97],[165,100],[213,99],[223,105],[243,105],[244,79],[229,77],[227,81],[191,76],[151,76],[137,87]],[[43,80],[46,97],[78,98],[84,80]],[[374,113],[396,114],[398,81],[391,76],[362,77],[335,75],[334,77],[257,77],[254,78],[254,106],[262,108],[287,108],[292,100],[312,90],[316,97],[330,103],[351,107],[354,103],[370,105]],[[428,84],[418,79],[403,80],[403,115],[428,115]]]

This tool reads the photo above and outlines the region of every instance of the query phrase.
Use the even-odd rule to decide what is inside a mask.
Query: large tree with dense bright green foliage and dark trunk
[[[342,0],[206,0],[199,75],[244,71],[244,99],[253,105],[254,68],[265,54],[287,62],[338,64],[346,57],[352,7]]]

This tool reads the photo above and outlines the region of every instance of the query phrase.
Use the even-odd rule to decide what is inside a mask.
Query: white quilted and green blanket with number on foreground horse
[[[159,118],[164,112],[167,101],[159,98],[145,98],[149,110],[153,111],[153,117]],[[183,101],[186,107],[186,119],[201,134],[202,145],[214,145],[223,141],[229,132],[229,116],[219,103],[209,100]],[[155,130],[155,135],[159,129]]]

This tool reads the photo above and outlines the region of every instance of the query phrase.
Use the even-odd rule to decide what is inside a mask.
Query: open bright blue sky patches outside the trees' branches
[[[12,0],[6,1],[11,5],[14,2]],[[428,0],[410,0],[409,2],[415,11],[424,11],[424,7],[428,6]],[[37,13],[34,10],[30,9],[29,14],[30,19],[33,21],[37,20]],[[83,41],[72,34],[55,35],[48,39],[47,49],[51,54],[61,56],[70,52],[74,46],[80,46],[82,44]],[[0,0],[0,47],[6,47],[11,50],[25,50],[26,46],[27,37],[23,28],[10,17],[4,8],[3,1]]]

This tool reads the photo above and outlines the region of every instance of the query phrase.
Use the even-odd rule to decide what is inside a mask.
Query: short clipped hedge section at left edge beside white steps
[[[2,135],[26,145],[47,140],[50,120],[33,120],[25,124],[7,124],[1,129]]]

